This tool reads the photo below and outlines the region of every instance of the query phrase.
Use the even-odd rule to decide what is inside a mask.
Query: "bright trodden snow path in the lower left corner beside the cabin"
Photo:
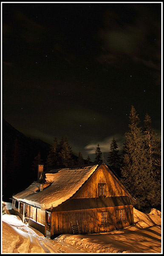
[[[11,217],[13,216],[11,215]],[[25,224],[22,223],[22,226],[20,224],[21,221],[18,219],[15,225],[2,221],[2,253],[84,253],[83,250],[65,242],[57,242],[44,236],[38,236],[30,227],[25,229]]]

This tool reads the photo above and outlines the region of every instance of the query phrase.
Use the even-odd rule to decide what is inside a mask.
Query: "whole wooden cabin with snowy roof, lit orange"
[[[53,238],[65,233],[102,233],[134,223],[134,198],[102,163],[42,172],[13,195],[13,212]]]

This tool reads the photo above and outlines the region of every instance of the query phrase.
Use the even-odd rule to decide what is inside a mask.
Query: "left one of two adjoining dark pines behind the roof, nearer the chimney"
[[[58,165],[58,143],[57,143],[56,137],[54,138],[53,145],[51,145],[51,147],[50,147],[50,151],[47,156],[45,165],[48,170],[50,170]]]

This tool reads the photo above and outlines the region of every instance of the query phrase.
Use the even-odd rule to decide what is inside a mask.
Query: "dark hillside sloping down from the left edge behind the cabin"
[[[45,163],[50,145],[26,137],[6,120],[2,123],[3,139],[3,199],[7,199],[34,181],[37,170],[31,170],[34,157],[40,151]],[[8,189],[9,188],[9,189]]]

